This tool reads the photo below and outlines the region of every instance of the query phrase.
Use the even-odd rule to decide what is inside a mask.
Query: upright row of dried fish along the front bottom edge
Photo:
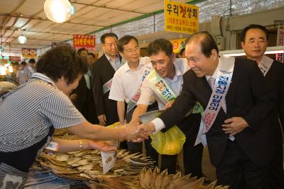
[[[217,181],[209,185],[203,185],[204,178],[190,177],[190,175],[182,176],[180,172],[175,175],[168,175],[168,171],[162,171],[155,167],[152,171],[151,168],[143,168],[139,181],[142,188],[146,189],[226,189],[229,186],[216,185]]]

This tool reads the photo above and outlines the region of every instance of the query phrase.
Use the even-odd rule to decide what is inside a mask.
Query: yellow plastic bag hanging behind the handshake
[[[185,143],[185,134],[174,126],[166,132],[151,134],[151,145],[159,154],[175,155],[179,154]]]

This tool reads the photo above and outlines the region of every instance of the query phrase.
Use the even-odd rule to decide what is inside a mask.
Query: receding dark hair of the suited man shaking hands
[[[210,57],[212,55],[212,50],[217,50],[217,54],[219,54],[217,43],[215,42],[212,35],[210,35],[207,31],[202,31],[190,35],[190,37],[185,40],[185,44],[188,44],[195,40],[200,43],[201,52],[205,57]]]

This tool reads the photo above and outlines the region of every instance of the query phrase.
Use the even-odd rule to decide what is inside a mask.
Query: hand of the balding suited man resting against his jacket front
[[[249,124],[241,117],[233,117],[224,121],[225,124],[222,125],[224,132],[234,136],[235,134],[241,132],[246,127],[249,127]]]

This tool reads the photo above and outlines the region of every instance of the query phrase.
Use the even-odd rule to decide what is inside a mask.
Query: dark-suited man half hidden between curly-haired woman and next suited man
[[[85,48],[80,48],[78,54],[85,57],[87,60],[88,51]],[[89,67],[91,62],[88,62]],[[94,95],[92,91],[92,79],[90,77],[90,71],[82,76],[79,81],[77,88],[72,91],[70,95],[70,100],[76,106],[76,108],[84,115],[87,121],[92,124],[98,124],[97,113],[94,103]]]

